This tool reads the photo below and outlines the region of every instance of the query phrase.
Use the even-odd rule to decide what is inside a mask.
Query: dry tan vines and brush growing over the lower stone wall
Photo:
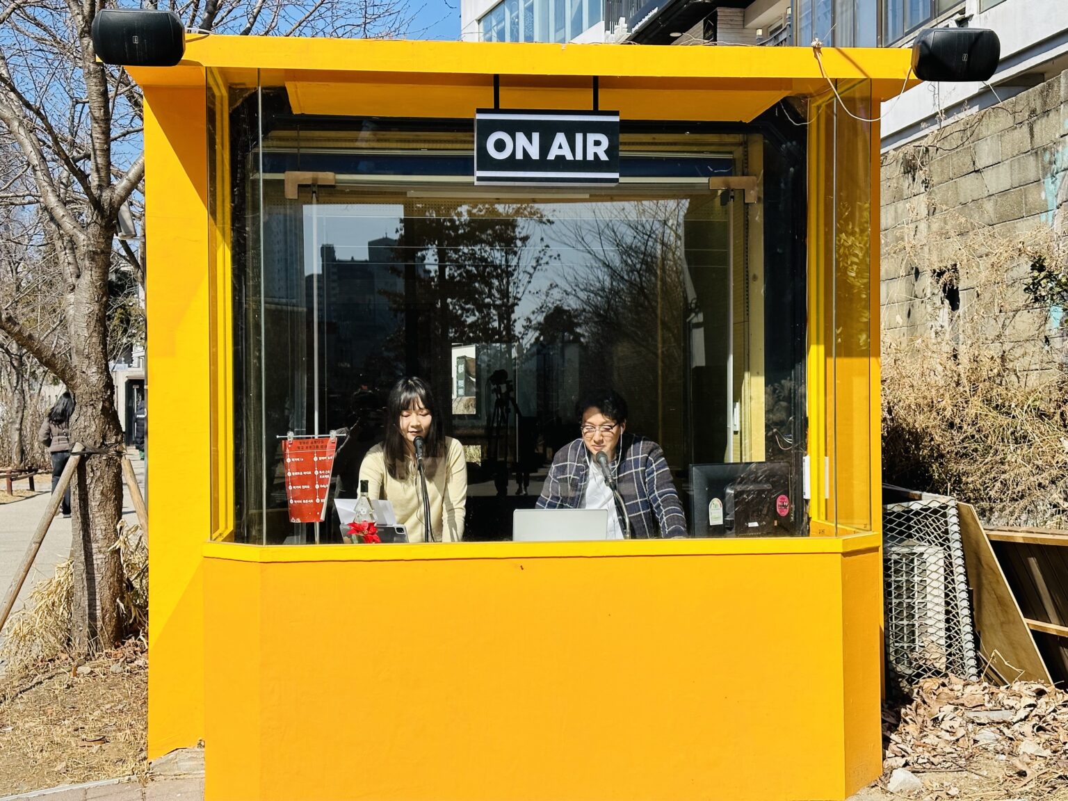
[[[1068,274],[1066,249],[1041,223],[1008,236],[953,213],[927,221],[883,253],[929,278],[913,303],[925,332],[883,340],[884,481],[994,523],[1068,528],[1066,337],[1027,288],[1036,270]],[[884,330],[900,324],[890,313]]]

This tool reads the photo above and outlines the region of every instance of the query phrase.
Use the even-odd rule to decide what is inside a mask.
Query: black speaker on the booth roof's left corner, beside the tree
[[[186,52],[177,14],[153,9],[106,9],[93,19],[93,48],[105,64],[174,66]]]

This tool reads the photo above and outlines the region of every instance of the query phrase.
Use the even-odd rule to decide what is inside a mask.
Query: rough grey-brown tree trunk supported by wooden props
[[[122,638],[119,595],[123,572],[112,550],[122,516],[122,428],[114,404],[108,363],[107,293],[111,266],[111,231],[90,229],[89,245],[79,248],[79,265],[70,295],[68,325],[78,383],[70,389],[75,412],[70,440],[89,451],[78,466],[72,496],[74,562],[74,653],[89,656],[114,646]]]

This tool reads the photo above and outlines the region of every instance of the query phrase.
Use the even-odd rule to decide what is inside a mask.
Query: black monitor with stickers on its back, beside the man
[[[803,511],[788,461],[690,466],[690,520],[697,537],[791,536]]]

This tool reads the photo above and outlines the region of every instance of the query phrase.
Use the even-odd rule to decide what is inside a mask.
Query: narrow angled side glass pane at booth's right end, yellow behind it
[[[814,101],[810,163],[815,207],[810,253],[824,270],[814,287],[808,442],[821,465],[812,470],[811,515],[835,531],[870,530],[879,486],[870,466],[871,346],[878,308],[871,296],[870,84],[838,88]],[[870,468],[868,468],[869,470]]]

